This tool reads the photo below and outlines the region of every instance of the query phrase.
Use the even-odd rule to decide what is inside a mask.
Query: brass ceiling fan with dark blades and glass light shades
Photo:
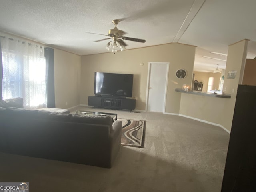
[[[123,40],[135,41],[135,42],[140,42],[140,43],[146,42],[146,40],[144,40],[144,39],[123,36],[124,34],[126,34],[126,32],[119,30],[116,27],[119,22],[120,22],[119,19],[112,20],[112,23],[115,25],[115,27],[113,29],[108,30],[108,35],[98,34],[98,33],[90,33],[90,32],[87,32],[87,33],[108,36],[108,38],[100,39],[100,40],[97,40],[94,42],[112,39],[113,42],[112,41],[108,42],[108,44],[106,46],[106,49],[111,50],[112,52],[117,52],[117,48],[119,46],[120,46],[121,51],[125,50],[125,47],[127,46],[127,44]]]

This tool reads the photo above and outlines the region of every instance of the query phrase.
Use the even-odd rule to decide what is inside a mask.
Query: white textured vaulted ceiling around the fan
[[[107,52],[94,42],[114,28],[146,43],[125,41],[127,49],[179,42],[197,46],[194,70],[211,72],[226,62],[228,45],[250,39],[256,56],[255,0],[0,0],[0,30],[78,55]]]

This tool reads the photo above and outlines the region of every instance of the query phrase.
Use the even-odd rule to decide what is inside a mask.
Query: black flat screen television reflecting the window
[[[116,97],[132,97],[133,74],[94,74],[94,94]]]

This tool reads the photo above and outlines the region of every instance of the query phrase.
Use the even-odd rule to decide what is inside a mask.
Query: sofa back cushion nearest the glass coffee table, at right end
[[[76,123],[89,123],[89,124],[100,124],[100,125],[111,125],[113,120],[110,116],[84,116],[79,114],[74,114],[71,117],[72,122]]]

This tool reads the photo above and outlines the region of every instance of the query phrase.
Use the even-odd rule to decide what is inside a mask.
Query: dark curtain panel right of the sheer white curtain
[[[55,108],[55,92],[54,92],[54,49],[44,48],[44,56],[46,62],[46,96],[47,107]]]

